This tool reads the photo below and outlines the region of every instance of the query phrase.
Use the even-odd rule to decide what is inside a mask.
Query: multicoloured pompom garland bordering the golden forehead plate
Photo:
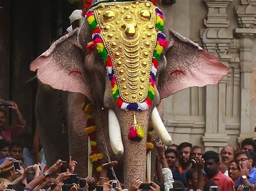
[[[166,40],[165,34],[162,32],[164,27],[164,16],[163,12],[156,6],[156,31],[157,31],[157,45],[154,49],[153,58],[152,58],[152,67],[150,72],[150,85],[149,91],[147,92],[147,97],[145,98],[143,103],[125,103],[124,100],[119,95],[119,89],[117,86],[116,75],[114,74],[114,70],[112,68],[112,60],[110,58],[109,53],[103,45],[103,40],[100,37],[100,28],[95,19],[95,13],[93,11],[88,11],[86,13],[87,22],[92,30],[92,41],[94,46],[104,61],[106,65],[106,70],[109,75],[109,79],[111,81],[112,86],[112,94],[114,100],[117,103],[117,107],[125,110],[147,110],[152,107],[154,100],[154,87],[156,84],[156,75],[158,69],[158,62],[160,60],[160,55],[163,52],[163,48],[166,48],[168,45],[168,41]],[[92,47],[92,45],[90,46]]]

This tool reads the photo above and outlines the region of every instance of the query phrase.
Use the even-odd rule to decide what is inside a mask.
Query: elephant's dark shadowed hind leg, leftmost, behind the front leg
[[[58,95],[58,90],[39,84],[36,97],[37,128],[48,167],[58,159],[69,157],[68,138],[66,133],[62,133]],[[65,97],[65,93],[61,97]]]

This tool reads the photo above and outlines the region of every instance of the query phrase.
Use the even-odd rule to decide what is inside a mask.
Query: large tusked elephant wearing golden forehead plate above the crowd
[[[143,10],[139,7],[136,8],[137,5],[141,5]],[[102,38],[113,38],[109,42],[105,39],[104,45],[106,46],[107,43],[110,43],[110,46],[116,47],[117,44],[113,42],[114,38],[118,39],[118,37],[107,32],[104,33],[104,30],[111,30],[113,33],[116,30],[121,31],[116,34],[120,34],[120,37],[129,41],[135,37],[137,38],[137,36],[140,38],[139,31],[142,34],[145,33],[144,29],[146,28],[139,27],[139,24],[149,22],[151,17],[156,19],[153,16],[153,12],[157,8],[150,2],[101,3],[95,7],[94,11],[97,8],[102,9],[97,12],[97,17],[103,15],[103,23],[113,22],[116,19],[114,21],[116,23],[111,25],[112,27],[101,26],[102,28],[100,28],[102,30],[100,31]],[[123,10],[119,11],[118,9],[121,8]],[[134,16],[126,15],[124,17],[124,19],[127,19],[126,22],[118,25],[120,23],[119,16],[123,18],[122,14],[125,14],[126,9],[133,8],[135,12],[139,11],[139,13],[137,15],[134,14]],[[147,8],[152,8],[153,11],[145,11]],[[137,16],[142,16],[143,18],[140,18],[140,21],[135,22],[135,24],[134,20],[133,22],[129,21],[129,19],[137,19],[135,18]],[[87,15],[87,20],[88,18],[89,16]],[[100,22],[98,20],[98,23]],[[115,25],[118,26],[114,27]],[[147,25],[148,30],[152,29],[151,26]],[[48,165],[53,164],[58,158],[68,159],[70,154],[78,162],[76,173],[86,176],[87,158],[90,153],[88,153],[87,136],[83,133],[87,118],[81,108],[84,100],[89,101],[92,105],[92,114],[97,127],[96,135],[99,150],[104,152],[105,161],[119,161],[118,168],[121,170],[117,176],[119,178],[122,177],[120,180],[124,181],[125,187],[128,187],[133,179],[145,181],[146,177],[146,138],[141,138],[139,141],[127,138],[130,136],[130,126],[134,122],[134,116],[136,116],[136,121],[142,126],[144,132],[147,132],[149,122],[152,121],[157,136],[166,145],[170,145],[169,133],[163,129],[164,124],[159,120],[157,107],[162,103],[161,100],[187,87],[216,84],[227,74],[227,67],[190,39],[171,29],[164,29],[163,32],[169,43],[159,58],[155,84],[153,84],[154,98],[152,105],[150,107],[147,105],[147,108],[144,109],[123,108],[123,105],[122,107],[118,106],[118,102],[113,97],[114,86],[109,80],[111,71],[108,70],[101,56],[99,56],[100,54],[97,53],[98,46],[95,48],[96,44],[91,43],[90,27],[90,23],[85,22],[79,29],[55,41],[46,52],[32,61],[30,69],[37,71],[39,80],[36,97],[37,127]],[[142,39],[150,39],[151,34],[145,34],[146,37]],[[152,32],[152,34],[157,36],[157,33]],[[138,40],[138,42],[144,41]],[[120,49],[123,48],[123,52],[116,51],[118,52],[116,53],[112,51],[111,47],[107,47],[109,53],[113,52],[112,57],[110,57],[113,67],[116,67],[114,72],[117,81],[119,77],[119,82],[117,82],[119,89],[120,87],[126,89],[127,86],[122,84],[123,78],[120,77],[125,70],[118,69],[117,65],[120,64],[122,65],[121,67],[124,67],[127,63],[119,63],[114,56],[126,55],[129,52],[130,47],[124,52],[123,46],[125,43],[123,41],[123,44],[117,45]],[[138,55],[151,55],[152,58],[152,52],[149,51],[150,54],[145,53],[146,46],[156,47],[155,41],[152,40],[152,44],[145,43],[141,45],[138,49],[144,52],[143,55],[142,53],[138,53]],[[132,49],[133,44],[131,43],[130,45]],[[132,52],[131,49],[129,53]],[[132,55],[137,54],[136,51],[127,56],[132,58]],[[150,72],[150,62],[137,62],[147,67],[146,72]],[[133,65],[129,65],[129,67],[131,66]],[[127,71],[126,73],[129,73],[129,70]],[[144,75],[144,73],[139,73],[137,80],[142,79],[140,75]],[[145,74],[145,76],[147,76],[146,81],[149,81],[149,75]],[[137,83],[138,81],[132,82]],[[129,84],[132,83],[129,81]],[[139,87],[147,89],[147,86],[149,86],[149,83]],[[123,89],[120,89],[120,92]],[[120,97],[125,97],[125,92],[120,93]],[[127,95],[129,94],[127,93]],[[145,100],[145,93],[136,94],[135,96],[131,94],[131,99],[140,95],[144,96]],[[129,102],[129,99],[127,98],[128,101],[126,102]],[[137,102],[142,103],[144,100],[137,100]],[[130,103],[136,104],[136,101],[131,101]],[[63,131],[66,131],[66,133],[63,133]]]

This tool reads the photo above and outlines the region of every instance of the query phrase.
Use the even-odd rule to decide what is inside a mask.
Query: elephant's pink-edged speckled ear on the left
[[[83,51],[77,42],[77,30],[55,41],[32,61],[30,70],[37,70],[38,79],[52,88],[82,93],[91,100],[89,75],[83,61]]]

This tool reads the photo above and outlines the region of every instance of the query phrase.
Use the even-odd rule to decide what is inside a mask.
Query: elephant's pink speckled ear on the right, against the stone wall
[[[214,55],[177,32],[170,30],[169,34],[170,44],[165,53],[167,63],[158,79],[160,98],[184,88],[216,84],[227,74],[227,67]]]

